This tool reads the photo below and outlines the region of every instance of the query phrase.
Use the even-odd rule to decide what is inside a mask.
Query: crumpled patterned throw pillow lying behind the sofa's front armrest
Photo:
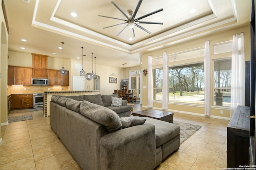
[[[136,125],[142,125],[145,123],[146,118],[139,116],[131,116],[131,117],[120,117],[120,121],[123,125],[123,128],[132,127]]]

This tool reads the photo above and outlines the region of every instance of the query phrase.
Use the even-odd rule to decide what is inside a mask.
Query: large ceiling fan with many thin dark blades
[[[128,17],[128,16],[115,4],[115,2],[112,1],[111,3],[114,4],[114,6],[116,6],[116,8],[117,8],[120,12],[122,12],[122,14],[124,14],[124,16],[127,18],[127,20],[123,20],[123,19],[120,19],[120,18],[109,17],[109,16],[102,16],[102,15],[98,15],[98,16],[100,16],[100,17],[106,17],[106,18],[112,18],[112,19],[116,19],[116,20],[126,21],[126,22],[124,22],[124,23],[118,23],[118,24],[116,24],[116,25],[111,25],[111,26],[108,26],[108,27],[104,27],[104,28],[103,28],[103,29],[105,29],[105,28],[114,27],[114,26],[117,26],[117,25],[122,25],[122,24],[127,23],[127,25],[117,34],[117,36],[120,35],[120,33],[122,33],[122,31],[124,31],[124,29],[126,29],[126,27],[129,27],[129,28],[132,29],[132,35],[133,35],[133,37],[135,37],[134,25],[135,25],[136,27],[139,27],[140,29],[146,31],[146,32],[149,33],[149,34],[151,33],[151,32],[148,31],[147,29],[145,29],[145,28],[143,28],[142,26],[138,25],[138,23],[164,24],[163,22],[139,21],[139,20],[141,20],[141,19],[143,19],[143,18],[146,18],[146,17],[151,16],[151,15],[153,15],[153,14],[156,14],[156,13],[158,13],[158,12],[160,12],[160,11],[163,11],[163,8],[161,8],[161,9],[159,9],[159,10],[156,10],[156,11],[154,11],[154,12],[150,12],[149,14],[146,14],[146,15],[144,15],[144,16],[141,16],[141,17],[135,19],[135,16],[136,16],[136,14],[137,14],[137,12],[138,12],[138,10],[139,10],[139,8],[140,8],[140,4],[142,3],[142,0],[139,0],[139,2],[138,2],[138,4],[137,4],[136,9],[135,9],[134,12],[131,11],[131,10],[128,11],[130,17]]]

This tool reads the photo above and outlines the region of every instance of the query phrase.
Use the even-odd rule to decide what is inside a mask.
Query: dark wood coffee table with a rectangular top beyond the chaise
[[[132,113],[132,115],[140,117],[151,117],[153,119],[167,121],[170,123],[173,122],[173,113],[168,111],[146,109],[141,111],[135,111]]]

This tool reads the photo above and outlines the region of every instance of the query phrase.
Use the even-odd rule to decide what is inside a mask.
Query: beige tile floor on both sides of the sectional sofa
[[[134,111],[142,108],[134,105]],[[75,160],[50,128],[50,118],[41,111],[11,111],[9,116],[32,114],[33,120],[2,126],[0,170],[80,170]],[[174,113],[174,121],[202,128],[156,170],[221,170],[226,168],[227,120]]]

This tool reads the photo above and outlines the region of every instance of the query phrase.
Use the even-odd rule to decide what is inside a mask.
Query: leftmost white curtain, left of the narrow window
[[[148,107],[153,107],[152,56],[148,56]]]

